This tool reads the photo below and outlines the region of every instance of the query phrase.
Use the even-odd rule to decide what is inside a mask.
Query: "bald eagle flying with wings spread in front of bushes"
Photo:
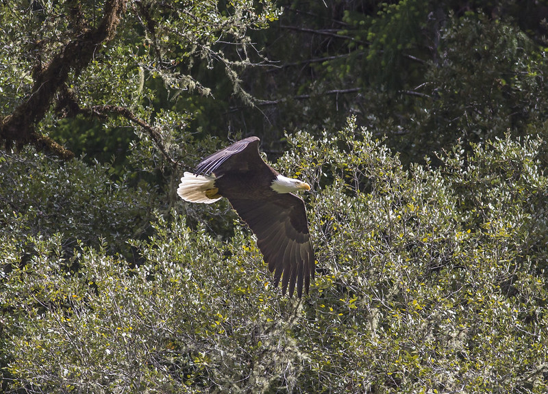
[[[314,250],[306,209],[292,194],[310,190],[308,183],[280,175],[262,161],[259,138],[248,137],[203,159],[194,173],[185,172],[177,194],[186,201],[210,204],[225,197],[257,236],[264,262],[274,273],[274,286],[282,279],[299,298],[308,293],[314,278]]]

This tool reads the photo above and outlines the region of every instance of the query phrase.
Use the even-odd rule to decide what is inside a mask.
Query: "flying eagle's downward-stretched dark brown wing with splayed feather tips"
[[[228,198],[240,218],[257,235],[269,270],[274,272],[274,285],[282,278],[282,292],[289,285],[289,296],[295,287],[301,297],[308,293],[314,278],[314,250],[308,232],[303,200],[294,194],[273,194],[269,199]]]

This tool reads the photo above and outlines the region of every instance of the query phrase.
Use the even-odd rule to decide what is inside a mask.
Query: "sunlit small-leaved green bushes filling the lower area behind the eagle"
[[[39,177],[24,182],[21,171],[3,183],[2,195],[24,192],[36,208],[3,209],[2,222],[30,228],[38,220],[42,228],[1,231],[4,388],[548,389],[548,179],[538,168],[540,141],[508,137],[474,146],[471,155],[456,146],[438,168],[405,171],[352,122],[318,140],[306,133],[289,140],[279,168],[298,168],[315,189],[306,200],[320,270],[303,300],[272,288],[240,226],[216,239],[204,226],[190,228],[185,215],[159,216],[149,239],[129,240],[135,265],[109,252],[116,239],[85,239],[83,228],[93,228],[86,215],[77,228],[37,219],[36,210],[47,209],[40,200],[61,198],[42,190]],[[94,171],[101,173],[80,172],[64,196],[94,193]],[[112,200],[137,192],[101,189],[89,209],[107,212]]]

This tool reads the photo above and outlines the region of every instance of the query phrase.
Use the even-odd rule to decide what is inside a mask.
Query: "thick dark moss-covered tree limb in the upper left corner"
[[[96,29],[86,29],[82,35],[62,47],[48,64],[34,70],[34,85],[27,99],[12,114],[0,120],[0,140],[6,147],[13,143],[18,148],[32,144],[38,149],[50,150],[62,159],[74,156],[51,138],[36,133],[34,127],[36,122],[44,118],[53,96],[65,85],[69,73],[80,73],[101,45],[114,38],[116,27],[125,11],[125,3],[126,0],[107,0],[103,19]]]

